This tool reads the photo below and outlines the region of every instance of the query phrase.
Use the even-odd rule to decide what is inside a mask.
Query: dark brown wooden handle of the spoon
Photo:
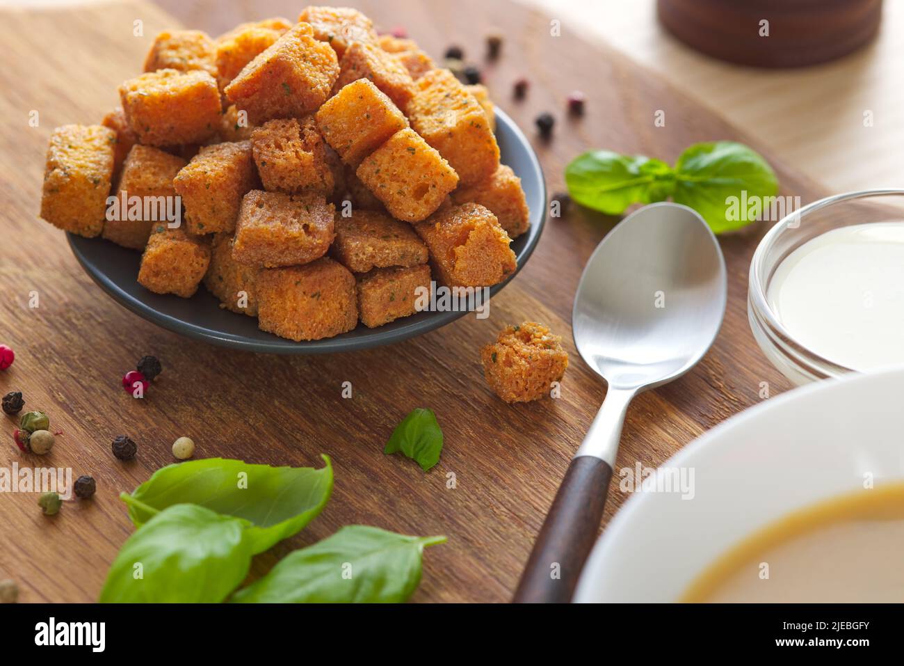
[[[595,456],[571,461],[524,567],[516,604],[567,604],[597,540],[612,468]]]

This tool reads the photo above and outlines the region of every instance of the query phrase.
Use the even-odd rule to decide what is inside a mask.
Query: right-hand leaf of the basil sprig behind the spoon
[[[689,147],[675,164],[675,179],[673,201],[696,210],[715,233],[754,221],[740,202],[758,200],[768,207],[766,197],[778,192],[778,179],[766,159],[734,141]]]

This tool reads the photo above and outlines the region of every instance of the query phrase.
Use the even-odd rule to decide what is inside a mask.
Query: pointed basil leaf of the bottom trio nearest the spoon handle
[[[420,582],[425,546],[445,537],[407,537],[351,525],[284,557],[270,573],[239,590],[240,604],[400,603]]]

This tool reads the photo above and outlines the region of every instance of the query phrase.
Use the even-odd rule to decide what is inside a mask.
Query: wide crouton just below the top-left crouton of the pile
[[[220,128],[220,90],[206,71],[151,71],[125,81],[119,97],[143,144],[203,143]]]

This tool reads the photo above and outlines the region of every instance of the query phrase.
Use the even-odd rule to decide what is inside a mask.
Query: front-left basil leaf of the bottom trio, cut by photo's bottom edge
[[[157,513],[119,550],[103,603],[219,603],[251,565],[248,521],[194,504]]]

